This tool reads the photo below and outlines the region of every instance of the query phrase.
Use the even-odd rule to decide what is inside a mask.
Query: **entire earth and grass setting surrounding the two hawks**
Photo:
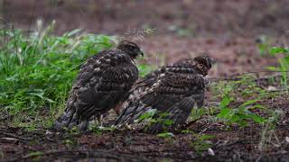
[[[83,136],[46,131],[79,67],[122,38],[144,50],[140,77],[182,58],[216,59],[191,126],[156,136],[97,123]],[[288,161],[288,45],[289,0],[0,0],[0,161],[110,161],[110,152],[115,161]],[[152,114],[140,118],[159,121]]]

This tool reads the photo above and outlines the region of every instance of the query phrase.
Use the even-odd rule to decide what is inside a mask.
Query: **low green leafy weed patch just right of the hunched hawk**
[[[254,111],[266,110],[259,101],[268,97],[269,92],[258,87],[254,77],[245,75],[241,76],[238,81],[224,83],[224,85],[220,83],[215,86],[221,94],[219,114],[217,115],[219,119],[224,120],[229,125],[235,123],[239,126],[248,126],[249,121],[258,124],[263,124],[266,121]],[[240,98],[243,101],[239,101]]]

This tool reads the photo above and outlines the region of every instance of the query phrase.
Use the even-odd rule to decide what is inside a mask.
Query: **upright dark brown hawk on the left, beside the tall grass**
[[[54,122],[52,130],[87,130],[92,116],[100,116],[126,101],[138,78],[134,59],[144,55],[132,41],[122,40],[115,49],[107,49],[89,58],[81,66],[65,112]]]

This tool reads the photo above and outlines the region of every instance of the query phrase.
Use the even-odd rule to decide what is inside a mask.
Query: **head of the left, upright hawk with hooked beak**
[[[138,55],[144,56],[144,52],[133,41],[130,40],[121,40],[117,45],[117,49],[123,50],[133,59]]]

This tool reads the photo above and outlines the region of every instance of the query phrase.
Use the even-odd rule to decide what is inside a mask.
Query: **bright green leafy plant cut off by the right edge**
[[[285,90],[288,90],[288,77],[287,73],[289,71],[289,49],[274,47],[270,49],[270,54],[275,56],[281,54],[282,58],[278,58],[279,67],[267,67],[270,70],[281,71],[281,85]]]

